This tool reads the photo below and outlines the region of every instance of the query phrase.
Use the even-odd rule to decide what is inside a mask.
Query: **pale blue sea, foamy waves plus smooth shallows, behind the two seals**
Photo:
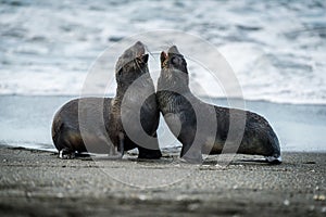
[[[178,34],[166,36],[162,29]],[[80,94],[105,49],[103,75],[114,76],[122,51],[114,46],[131,44],[138,36],[148,44],[154,79],[160,51],[176,43],[188,54],[191,89],[223,99],[228,97],[223,91],[226,84],[212,82],[204,67],[196,64],[209,56],[208,49],[190,39],[211,44],[229,64],[248,108],[272,119],[285,150],[326,150],[323,0],[0,0],[0,142],[52,149],[50,120],[58,106]],[[87,94],[105,88],[112,95],[114,84],[108,88],[106,82],[93,82]],[[40,104],[43,110],[35,107]],[[36,119],[30,119],[34,115]]]

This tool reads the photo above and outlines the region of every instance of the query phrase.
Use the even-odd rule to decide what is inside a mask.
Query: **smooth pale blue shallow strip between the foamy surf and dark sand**
[[[71,97],[0,97],[0,144],[12,143],[37,149],[53,148],[53,115]],[[211,99],[212,104],[227,106],[226,99]],[[41,103],[39,103],[41,102]],[[37,104],[38,106],[35,106]],[[246,110],[264,116],[278,136],[283,151],[326,151],[326,106],[288,105],[264,101],[246,101]],[[1,133],[2,132],[2,133]],[[180,145],[160,122],[161,148]],[[309,144],[309,145],[308,145]]]

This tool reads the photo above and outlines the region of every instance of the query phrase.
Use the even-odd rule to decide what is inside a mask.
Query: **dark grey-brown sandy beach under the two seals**
[[[216,156],[64,161],[0,146],[0,216],[326,216],[326,153],[284,153],[274,166],[243,157],[223,168]]]

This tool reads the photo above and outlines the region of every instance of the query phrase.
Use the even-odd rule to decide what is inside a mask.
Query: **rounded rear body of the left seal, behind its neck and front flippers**
[[[111,143],[108,143],[105,130],[109,127],[109,122],[105,122],[105,126],[103,126],[101,125],[101,119],[109,118],[111,100],[111,98],[75,99],[64,104],[57,112],[51,131],[60,158],[73,158],[75,152],[110,153]],[[103,111],[103,108],[105,110]],[[80,125],[79,115],[83,114],[92,114],[90,118],[92,122],[87,122],[87,125]],[[82,137],[82,131],[87,132],[87,136],[84,135]],[[100,138],[97,133],[101,133],[103,137]],[[86,148],[85,138],[87,138],[86,142],[91,143],[91,145]]]

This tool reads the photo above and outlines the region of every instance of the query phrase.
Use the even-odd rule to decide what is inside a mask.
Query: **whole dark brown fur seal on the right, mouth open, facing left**
[[[281,162],[278,139],[264,117],[249,111],[204,103],[190,92],[187,63],[175,46],[168,49],[167,54],[161,53],[156,98],[167,126],[183,143],[180,156],[187,162],[201,163],[202,153],[220,154],[222,150],[223,153],[263,155],[268,163]],[[238,145],[234,142],[236,140],[228,138],[230,116],[234,118],[233,133],[241,132],[242,128],[243,135],[240,136],[243,137],[240,137]],[[238,122],[241,117],[242,124]],[[201,129],[198,129],[199,118]],[[214,129],[206,127],[214,126]]]

